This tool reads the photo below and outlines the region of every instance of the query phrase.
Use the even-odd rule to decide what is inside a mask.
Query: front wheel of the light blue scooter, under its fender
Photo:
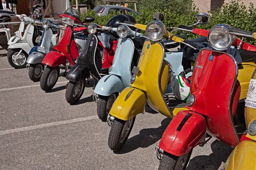
[[[99,119],[107,121],[108,113],[115,102],[117,94],[111,94],[110,96],[100,96],[97,102],[97,114]]]

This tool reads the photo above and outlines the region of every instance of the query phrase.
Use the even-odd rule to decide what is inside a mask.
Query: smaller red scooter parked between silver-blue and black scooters
[[[92,22],[93,20],[93,17],[86,17],[84,23]],[[79,56],[79,51],[82,51],[86,43],[86,37],[79,37],[82,34],[87,34],[87,29],[85,25],[81,24],[82,21],[76,9],[68,8],[64,14],[62,14],[61,21],[68,25],[65,28],[63,37],[58,44],[53,47],[53,50],[44,57],[42,62],[46,65],[40,79],[40,87],[44,91],[51,90],[58,81],[60,74],[59,65],[63,65],[65,71],[67,62],[70,66],[75,65],[76,57]],[[73,26],[82,26],[84,29],[74,33],[72,31]]]

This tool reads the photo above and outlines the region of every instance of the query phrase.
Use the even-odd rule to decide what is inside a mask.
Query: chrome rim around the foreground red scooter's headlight
[[[226,45],[225,48],[218,48],[218,47],[216,47],[215,44],[213,44],[212,40],[210,39],[210,35],[211,35],[212,31],[214,31],[216,28],[224,29],[226,31],[226,34],[228,34],[228,36],[230,37],[230,42],[228,43],[228,45]],[[235,39],[235,37],[233,35],[229,34],[229,30],[230,30],[230,26],[228,26],[226,24],[218,24],[218,25],[213,26],[209,30],[209,33],[207,35],[207,41],[209,42],[209,45],[211,45],[212,48],[214,48],[215,50],[218,50],[218,51],[225,51],[228,48],[230,48],[230,46],[232,45],[233,40]]]

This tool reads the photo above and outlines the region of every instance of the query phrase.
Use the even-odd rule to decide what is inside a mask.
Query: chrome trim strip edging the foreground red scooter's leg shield
[[[218,53],[227,54],[229,57],[231,57],[231,58],[233,59],[233,61],[234,61],[235,64],[236,64],[236,76],[235,76],[235,79],[234,79],[234,82],[233,82],[233,85],[232,85],[232,89],[231,89],[231,91],[230,91],[230,97],[229,97],[229,101],[228,101],[228,102],[229,102],[228,110],[229,110],[230,122],[231,122],[231,125],[232,125],[232,127],[233,127],[233,130],[234,130],[234,132],[235,132],[236,139],[237,139],[237,141],[240,143],[241,141],[240,141],[240,138],[239,138],[239,136],[238,136],[238,133],[237,133],[237,131],[236,131],[236,128],[235,128],[235,125],[234,125],[234,122],[233,122],[233,119],[232,119],[232,113],[231,113],[231,109],[232,109],[232,108],[230,108],[231,97],[232,97],[232,94],[233,94],[233,91],[234,91],[234,88],[235,88],[235,84],[236,84],[236,80],[237,80],[237,76],[238,76],[238,65],[237,65],[237,62],[236,62],[236,60],[234,59],[234,57],[233,57],[232,55],[228,54],[227,52],[218,51],[218,50],[213,50],[213,49],[210,49],[210,48],[202,48],[202,49],[200,50],[200,52],[201,52],[202,50],[209,50],[209,51],[212,51],[212,52],[218,52]],[[200,52],[199,52],[199,53],[200,53]],[[193,75],[192,75],[192,76],[193,76]]]

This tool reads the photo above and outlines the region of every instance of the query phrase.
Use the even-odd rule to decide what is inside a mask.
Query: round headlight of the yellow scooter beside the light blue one
[[[166,28],[160,21],[152,21],[146,27],[146,35],[152,41],[159,41],[166,33]]]

